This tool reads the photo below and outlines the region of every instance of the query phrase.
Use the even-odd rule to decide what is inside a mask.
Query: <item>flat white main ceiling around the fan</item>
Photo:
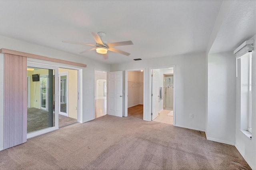
[[[106,63],[206,51],[222,0],[0,0],[0,35],[77,54],[95,43],[92,32],[105,32],[107,42],[132,40],[116,47],[130,56],[108,51]],[[78,55],[78,54],[77,54]]]

